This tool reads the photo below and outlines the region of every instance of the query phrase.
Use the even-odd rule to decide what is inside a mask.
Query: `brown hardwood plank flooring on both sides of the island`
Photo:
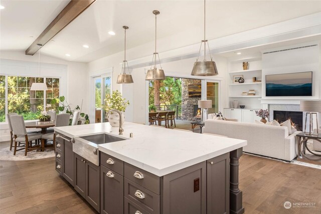
[[[0,143],[0,148],[9,144]],[[244,154],[245,213],[321,213],[321,170]],[[285,201],[314,207],[285,209]],[[53,158],[0,161],[0,213],[96,213],[55,171]]]

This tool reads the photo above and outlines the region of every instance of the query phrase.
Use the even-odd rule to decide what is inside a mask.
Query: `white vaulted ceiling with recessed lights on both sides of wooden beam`
[[[1,1],[1,50],[26,50],[68,1]],[[127,48],[171,38],[160,51],[199,43],[203,37],[203,1],[99,1],[42,48],[42,53],[69,61],[90,62]],[[207,1],[207,39],[271,25],[321,11],[321,1]],[[110,36],[109,31],[115,36]],[[182,38],[184,35],[184,38]],[[34,38],[30,38],[34,36]],[[82,46],[87,44],[90,48]],[[71,57],[66,57],[68,53]]]

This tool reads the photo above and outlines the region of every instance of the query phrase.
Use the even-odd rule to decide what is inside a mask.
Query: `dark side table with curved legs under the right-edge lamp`
[[[309,134],[304,134],[304,132],[301,132],[301,133],[297,134],[296,137],[297,137],[297,159],[299,159],[300,156],[302,156],[302,158],[306,158],[308,160],[313,160],[313,161],[321,160],[321,154],[316,154],[316,153],[312,152],[307,147],[307,144],[306,144],[307,140],[315,140],[315,141],[318,141],[319,143],[321,143],[321,134],[309,135]],[[301,150],[302,144],[303,144],[303,147]],[[313,157],[312,155],[307,156],[305,154],[305,149],[308,150],[312,155],[314,155],[316,157]]]

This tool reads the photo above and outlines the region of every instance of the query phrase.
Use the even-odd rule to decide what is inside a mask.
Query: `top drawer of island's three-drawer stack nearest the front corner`
[[[129,163],[124,164],[124,174],[125,178],[138,183],[156,194],[160,194],[161,179],[157,175],[130,165]],[[141,176],[141,178],[138,178],[139,176]]]

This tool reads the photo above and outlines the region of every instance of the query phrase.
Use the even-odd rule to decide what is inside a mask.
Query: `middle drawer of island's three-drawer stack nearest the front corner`
[[[160,196],[126,178],[124,178],[124,196],[151,214],[159,213]]]

